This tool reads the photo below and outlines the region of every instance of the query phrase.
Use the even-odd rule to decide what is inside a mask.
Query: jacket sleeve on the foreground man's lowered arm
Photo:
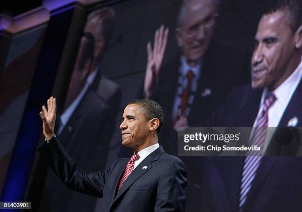
[[[177,158],[161,174],[157,184],[154,212],[185,212],[187,201],[187,172]]]

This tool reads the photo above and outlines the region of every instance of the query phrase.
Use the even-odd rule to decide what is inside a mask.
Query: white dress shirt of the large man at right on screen
[[[268,127],[277,127],[279,122],[285,112],[294,92],[296,91],[299,82],[302,77],[302,60],[296,70],[284,81],[281,85],[279,85],[272,93],[276,96],[275,103],[268,109]],[[264,88],[261,104],[258,111],[257,118],[254,122],[254,127],[257,126],[258,117],[261,115],[264,106],[264,99],[268,93],[268,89]],[[271,130],[271,129],[269,129]],[[272,133],[268,133],[265,143],[264,143],[264,151],[266,150],[269,141],[271,139]]]

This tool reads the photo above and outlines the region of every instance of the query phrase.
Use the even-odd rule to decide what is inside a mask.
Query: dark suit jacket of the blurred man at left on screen
[[[110,139],[113,135],[113,125],[114,118],[108,105],[88,88],[58,139],[83,169],[104,169]],[[100,160],[99,154],[104,155],[102,160]],[[43,187],[39,211],[93,211],[96,200],[94,197],[66,188],[49,170]]]

